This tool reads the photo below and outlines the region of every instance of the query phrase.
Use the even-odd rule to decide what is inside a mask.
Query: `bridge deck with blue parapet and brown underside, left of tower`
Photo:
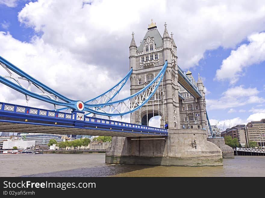
[[[167,136],[167,130],[84,116],[84,112],[58,112],[0,103],[0,131],[120,137]]]

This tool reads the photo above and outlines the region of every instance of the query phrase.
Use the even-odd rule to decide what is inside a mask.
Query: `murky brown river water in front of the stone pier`
[[[265,177],[265,156],[235,156],[223,166],[105,164],[105,154],[0,154],[1,177]]]

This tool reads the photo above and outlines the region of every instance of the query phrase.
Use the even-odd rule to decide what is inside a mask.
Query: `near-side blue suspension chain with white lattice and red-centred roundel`
[[[157,76],[147,86],[145,86],[142,90],[133,94],[132,96],[114,102],[110,102],[111,101],[110,97],[110,99],[108,99],[107,102],[104,103],[87,104],[83,103],[82,101],[68,99],[67,97],[52,90],[48,86],[44,85],[43,83],[31,77],[30,75],[26,74],[25,72],[23,72],[22,70],[20,70],[19,68],[17,68],[13,64],[5,60],[4,58],[2,58],[1,56],[0,56],[0,64],[9,74],[9,76],[5,77],[0,76],[0,82],[13,88],[14,90],[20,93],[25,94],[27,101],[28,101],[27,97],[30,96],[42,100],[44,102],[51,103],[53,105],[65,106],[73,110],[87,111],[93,114],[104,115],[104,116],[122,116],[132,113],[138,108],[141,108],[153,96],[153,94],[157,90],[167,67],[167,61],[166,61],[163,68],[157,74]],[[18,77],[15,76],[12,72],[17,74]],[[128,77],[129,75],[127,75],[127,79]],[[17,84],[6,78],[11,78],[15,80]],[[22,83],[20,83],[20,80],[28,81],[29,83],[28,88],[24,87]],[[36,86],[41,91],[41,93],[32,92],[30,90],[31,84]],[[115,94],[117,93],[118,92],[116,92]],[[61,99],[62,101],[58,101],[58,99]],[[81,105],[82,108],[79,108],[80,103],[82,103]],[[106,108],[109,109],[106,110]]]

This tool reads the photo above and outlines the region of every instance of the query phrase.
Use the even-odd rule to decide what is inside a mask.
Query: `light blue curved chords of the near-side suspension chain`
[[[19,68],[17,68],[13,64],[11,64],[7,60],[5,60],[4,58],[2,58],[1,56],[0,56],[0,62],[1,62],[1,65],[5,69],[9,69],[9,70],[13,71],[14,73],[16,73],[16,74],[18,74],[20,76],[20,77],[17,77],[17,78],[13,78],[11,72],[7,70],[10,73],[10,78],[13,78],[13,79],[18,79],[19,78],[19,79],[22,79],[22,80],[28,80],[30,83],[33,83],[35,86],[37,86],[40,90],[45,90],[49,94],[52,94],[51,96],[55,96],[56,99],[53,99],[51,96],[50,97],[48,97],[47,95],[42,96],[41,94],[34,93],[34,92],[26,89],[25,87],[23,87],[18,82],[18,80],[16,80],[16,82],[18,83],[18,85],[17,85],[15,83],[11,82],[10,80],[7,80],[5,77],[0,76],[0,82],[1,83],[3,83],[5,85],[13,88],[14,90],[17,90],[20,93],[25,94],[26,96],[31,96],[33,98],[36,98],[36,99],[39,99],[39,100],[42,100],[44,102],[48,102],[48,103],[51,103],[51,104],[54,104],[54,105],[66,106],[66,107],[71,108],[73,110],[78,110],[77,103],[79,101],[68,99],[67,97],[65,97],[65,96],[57,93],[56,91],[52,90],[48,86],[44,85],[43,83],[41,83],[38,80],[36,80],[33,77],[31,77],[30,75],[26,74],[25,72],[23,72],[22,70],[20,70]],[[133,94],[132,96],[129,96],[129,97],[125,98],[125,99],[121,99],[121,100],[114,101],[114,102],[110,102],[110,100],[109,100],[108,102],[99,103],[99,104],[87,104],[87,103],[83,103],[83,106],[84,107],[83,107],[82,110],[83,111],[90,112],[90,113],[98,114],[98,115],[105,115],[105,116],[122,116],[122,115],[129,114],[131,112],[134,112],[138,108],[141,108],[151,98],[151,96],[154,94],[154,92],[157,90],[157,88],[159,86],[159,83],[161,82],[161,80],[162,80],[162,78],[164,76],[164,72],[166,70],[166,67],[167,67],[167,61],[165,62],[164,66],[161,69],[161,71],[159,72],[159,74],[147,86],[145,86],[142,90],[140,90],[139,92]],[[129,75],[127,76],[127,78],[128,77],[129,77]],[[137,102],[134,102],[134,104],[137,103],[138,106],[135,107],[135,108],[132,108],[131,107],[129,111],[121,112],[121,113],[119,112],[119,113],[116,113],[116,114],[115,113],[107,113],[107,112],[97,111],[98,108],[101,109],[102,107],[106,107],[106,106],[109,106],[110,109],[111,108],[114,108],[115,109],[116,107],[113,106],[114,104],[116,104],[116,105],[117,104],[118,105],[119,104],[123,104],[123,103],[125,104],[125,101],[126,100],[128,100],[129,102],[131,102],[131,100],[135,96],[141,94],[142,92],[147,91],[148,89],[149,89],[149,92],[147,94],[148,97],[145,98],[145,101],[141,102],[140,104],[138,104]],[[43,91],[43,93],[44,93],[44,91]],[[58,101],[57,98],[63,100],[64,102]],[[93,110],[93,109],[91,109],[91,107],[94,107],[94,108],[97,107],[97,108],[95,108],[96,110]]]

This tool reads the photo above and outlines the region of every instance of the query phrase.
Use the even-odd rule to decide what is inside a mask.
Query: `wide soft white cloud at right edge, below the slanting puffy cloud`
[[[222,93],[220,99],[206,99],[207,109],[226,109],[244,106],[252,103],[263,103],[265,99],[256,96],[257,88],[244,88],[243,85],[229,88]]]

